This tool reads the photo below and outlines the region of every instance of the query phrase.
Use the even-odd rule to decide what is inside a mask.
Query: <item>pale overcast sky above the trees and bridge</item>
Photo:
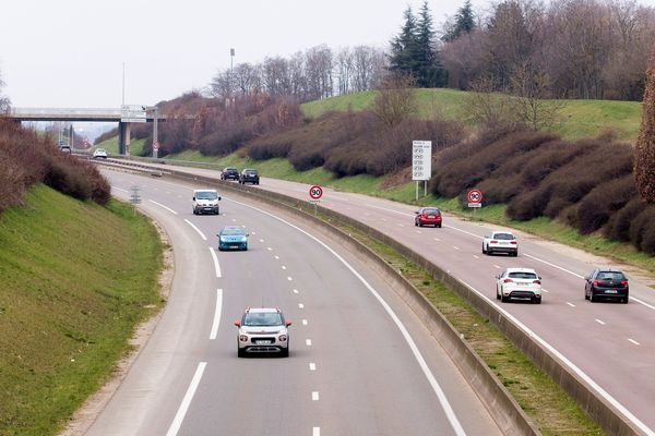
[[[205,87],[218,70],[333,49],[388,48],[422,0],[3,0],[2,89],[14,107],[154,105]],[[436,27],[464,0],[429,0]],[[474,0],[474,10],[488,0]],[[655,0],[642,0],[655,4]]]

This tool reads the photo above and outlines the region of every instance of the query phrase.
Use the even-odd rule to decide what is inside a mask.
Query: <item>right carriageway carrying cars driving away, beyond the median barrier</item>
[[[202,175],[213,170],[162,166]],[[262,178],[253,190],[309,199],[309,185]],[[445,216],[443,228],[414,227],[416,208],[381,198],[324,190],[321,206],[367,222],[449,270],[514,317],[581,377],[635,423],[655,435],[655,278],[626,267],[630,304],[584,300],[584,276],[612,262],[516,232],[519,257],[481,254],[483,237],[493,226]],[[496,301],[493,277],[507,267],[534,268],[543,277],[541,305]]]

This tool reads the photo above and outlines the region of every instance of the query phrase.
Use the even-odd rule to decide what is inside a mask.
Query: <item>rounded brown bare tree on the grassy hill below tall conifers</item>
[[[372,111],[386,125],[396,125],[416,113],[414,86],[410,76],[390,75],[378,89]]]

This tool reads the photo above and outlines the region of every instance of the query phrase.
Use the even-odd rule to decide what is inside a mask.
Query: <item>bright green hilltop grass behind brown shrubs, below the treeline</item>
[[[419,117],[440,114],[446,120],[461,120],[462,106],[468,93],[456,89],[416,89]],[[354,93],[344,96],[310,101],[301,105],[302,113],[315,118],[330,110],[364,110],[370,108],[374,92]],[[642,105],[639,101],[611,100],[549,100],[562,106],[558,121],[547,131],[575,141],[597,136],[605,131],[616,132],[621,141],[634,143],[641,124]]]

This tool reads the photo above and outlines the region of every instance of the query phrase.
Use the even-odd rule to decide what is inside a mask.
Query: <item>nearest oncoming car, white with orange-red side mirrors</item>
[[[247,308],[241,320],[236,320],[237,355],[247,353],[281,353],[289,356],[289,332],[291,322],[285,320],[279,308]]]

